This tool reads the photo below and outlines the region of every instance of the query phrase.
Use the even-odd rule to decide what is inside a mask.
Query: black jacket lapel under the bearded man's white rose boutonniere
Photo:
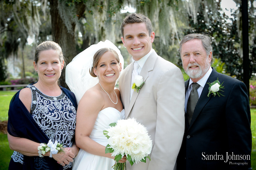
[[[190,127],[193,126],[193,123],[196,121],[196,118],[198,117],[199,113],[204,108],[204,106],[207,104],[207,102],[209,102],[209,100],[211,99],[212,95],[207,97],[207,94],[209,92],[209,90],[208,90],[209,85],[207,83],[214,82],[217,79],[216,77],[218,77],[218,72],[215,69],[213,69],[212,73],[210,74],[210,77],[207,79],[207,82],[204,85],[201,96],[198,99],[198,102],[196,104],[196,108],[194,110],[194,113],[193,113],[193,116],[192,116],[192,119],[190,122],[190,126],[188,129],[190,129]]]

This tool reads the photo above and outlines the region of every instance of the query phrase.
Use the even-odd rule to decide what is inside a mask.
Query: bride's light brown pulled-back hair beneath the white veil
[[[92,68],[89,70],[89,72],[90,72],[92,77],[97,77],[94,74],[93,70],[94,70],[94,68],[97,69],[97,65],[98,65],[99,60],[101,59],[103,54],[106,53],[107,51],[109,51],[112,54],[114,54],[116,60],[118,61],[118,64],[120,63],[120,59],[119,59],[118,54],[117,54],[117,52],[115,50],[113,50],[112,48],[101,48],[93,56]]]

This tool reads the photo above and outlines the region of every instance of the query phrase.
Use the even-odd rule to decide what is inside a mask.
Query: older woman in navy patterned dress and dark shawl
[[[65,65],[60,45],[52,41],[35,49],[38,82],[18,91],[10,103],[8,141],[14,153],[9,170],[69,170],[78,153],[74,143],[77,102],[58,85]],[[42,143],[58,142],[63,151],[43,154]]]

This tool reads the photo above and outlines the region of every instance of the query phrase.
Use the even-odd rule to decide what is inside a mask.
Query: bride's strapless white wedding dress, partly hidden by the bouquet
[[[124,109],[121,112],[111,107],[101,110],[98,113],[90,138],[106,146],[108,139],[104,136],[103,130],[109,128],[109,124],[117,122],[119,119],[124,119]],[[93,155],[80,149],[74,159],[72,170],[112,170],[114,164],[114,159]]]

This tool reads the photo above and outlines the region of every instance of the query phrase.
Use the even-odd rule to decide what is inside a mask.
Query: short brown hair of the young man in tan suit
[[[123,37],[124,37],[124,26],[128,24],[133,24],[133,23],[145,23],[147,26],[147,31],[149,31],[149,36],[150,36],[152,32],[152,24],[150,19],[143,14],[132,13],[124,18],[123,23],[121,25],[121,32]]]

